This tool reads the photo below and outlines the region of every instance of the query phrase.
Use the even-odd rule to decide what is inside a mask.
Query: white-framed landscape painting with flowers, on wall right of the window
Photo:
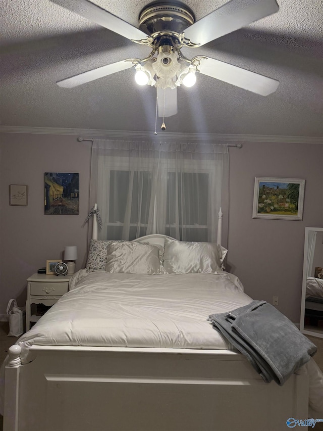
[[[305,180],[255,177],[252,218],[302,220]]]

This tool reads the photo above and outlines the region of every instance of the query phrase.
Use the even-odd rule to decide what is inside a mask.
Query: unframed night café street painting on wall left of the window
[[[45,214],[78,215],[80,206],[80,174],[45,172]]]

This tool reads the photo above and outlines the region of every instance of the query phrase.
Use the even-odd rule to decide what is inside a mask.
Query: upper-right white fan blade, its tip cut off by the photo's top
[[[278,10],[276,0],[231,0],[189,26],[184,31],[184,38],[204,45]]]

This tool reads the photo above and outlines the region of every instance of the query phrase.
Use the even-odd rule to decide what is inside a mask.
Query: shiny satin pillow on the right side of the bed
[[[223,272],[228,250],[216,243],[193,243],[165,238],[163,267],[169,274]]]

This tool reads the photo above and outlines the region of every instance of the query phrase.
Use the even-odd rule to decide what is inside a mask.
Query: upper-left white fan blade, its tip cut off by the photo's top
[[[105,9],[89,2],[88,0],[50,0],[69,11],[75,12],[96,24],[101,25],[130,40],[147,40],[149,37],[139,28],[127,23],[119,17],[107,12]]]

